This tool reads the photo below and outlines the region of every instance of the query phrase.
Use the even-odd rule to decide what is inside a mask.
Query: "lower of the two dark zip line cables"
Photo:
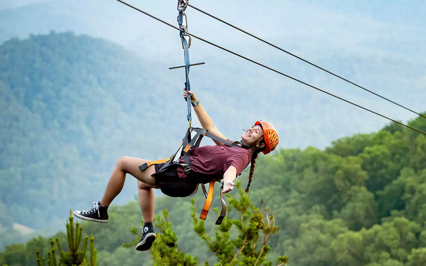
[[[137,10],[137,11],[141,12],[141,13],[144,13],[144,14],[146,14],[147,16],[152,17],[153,19],[158,20],[158,21],[160,21],[160,22],[162,22],[162,23],[164,23],[164,24],[166,24],[166,25],[168,25],[168,26],[170,26],[170,27],[172,27],[172,28],[174,28],[174,29],[177,29],[178,31],[182,31],[182,32],[183,32],[183,30],[179,29],[178,27],[173,26],[172,24],[170,24],[170,23],[168,23],[168,22],[166,22],[166,21],[164,21],[164,20],[161,20],[161,19],[159,19],[158,17],[155,17],[155,16],[153,16],[153,15],[151,15],[151,14],[149,14],[149,13],[147,13],[147,12],[145,12],[145,11],[141,10],[141,9],[138,9],[138,8],[136,8],[136,7],[132,6],[132,5],[130,5],[129,3],[124,2],[123,0],[117,0],[117,1],[118,1],[118,2],[120,2],[120,3],[122,3],[122,4],[124,4],[124,5],[126,5],[126,6],[131,7],[132,9],[135,9],[135,10]],[[265,65],[263,65],[263,64],[261,64],[261,63],[258,63],[258,62],[256,62],[256,61],[254,61],[254,60],[251,60],[250,58],[247,58],[247,57],[242,56],[242,55],[240,55],[240,54],[237,54],[237,53],[235,53],[235,52],[233,52],[233,51],[230,51],[230,50],[228,50],[228,49],[226,49],[226,48],[223,48],[222,46],[219,46],[219,45],[217,45],[217,44],[214,44],[214,43],[211,43],[211,42],[209,42],[209,41],[207,41],[207,40],[204,40],[203,38],[198,37],[198,36],[196,36],[196,35],[194,35],[194,34],[190,34],[190,33],[186,33],[186,34],[187,34],[188,36],[191,36],[191,37],[194,37],[194,38],[196,38],[196,39],[199,39],[199,40],[201,40],[201,41],[203,41],[203,42],[205,42],[205,43],[208,43],[208,44],[210,44],[210,45],[216,46],[217,48],[222,49],[222,50],[224,50],[224,51],[227,51],[227,52],[229,52],[229,53],[231,53],[231,54],[235,54],[236,56],[239,56],[239,57],[241,57],[241,58],[244,58],[245,60],[248,60],[248,61],[250,61],[250,62],[252,62],[252,63],[255,63],[255,64],[259,65],[259,66],[263,66],[263,67],[265,67],[265,68],[267,68],[267,69],[269,69],[269,70],[272,70],[273,72],[276,72],[276,73],[278,73],[278,74],[282,74],[283,76],[288,77],[288,78],[291,78],[292,80],[296,80],[297,82],[302,83],[302,84],[305,84],[306,86],[309,86],[309,87],[311,87],[311,88],[317,89],[317,90],[319,90],[320,92],[324,92],[324,93],[326,93],[326,94],[328,94],[328,95],[331,95],[331,96],[333,96],[333,97],[336,97],[337,99],[343,100],[343,101],[345,101],[345,102],[347,102],[347,103],[350,103],[350,104],[352,104],[352,105],[354,105],[354,106],[360,107],[360,108],[362,108],[362,109],[364,109],[364,110],[366,110],[366,111],[368,111],[368,112],[371,112],[371,113],[373,113],[373,114],[377,114],[377,115],[379,115],[379,116],[381,116],[381,117],[384,117],[384,118],[386,118],[386,119],[388,119],[388,120],[391,120],[391,121],[393,121],[394,123],[400,124],[401,126],[406,126],[406,127],[407,127],[407,128],[409,128],[409,129],[415,130],[415,131],[417,131],[417,132],[419,132],[419,133],[421,133],[421,134],[426,135],[426,132],[423,132],[423,131],[421,131],[420,129],[416,129],[416,128],[412,127],[412,126],[406,125],[406,124],[401,123],[401,122],[399,122],[399,121],[397,121],[397,120],[393,120],[392,118],[389,118],[389,117],[386,117],[386,116],[384,116],[384,115],[382,115],[382,114],[379,114],[379,113],[377,113],[377,112],[371,111],[370,109],[367,109],[367,108],[365,108],[365,107],[363,107],[363,106],[357,105],[356,103],[352,103],[351,101],[345,100],[345,99],[343,99],[343,98],[341,98],[341,97],[339,97],[339,96],[336,96],[336,95],[334,95],[334,94],[331,94],[330,92],[326,92],[326,91],[324,91],[324,90],[322,90],[322,89],[319,89],[319,88],[317,88],[317,87],[315,87],[315,86],[312,86],[312,85],[310,85],[310,84],[308,84],[308,83],[305,83],[305,82],[303,82],[303,81],[301,81],[301,80],[298,80],[298,79],[296,79],[296,78],[294,78],[294,77],[291,77],[291,76],[289,76],[289,75],[287,75],[287,74],[284,74],[284,73],[282,73],[282,72],[279,72],[278,70],[272,69],[272,68],[270,68],[270,67],[268,67],[268,66],[265,66]]]

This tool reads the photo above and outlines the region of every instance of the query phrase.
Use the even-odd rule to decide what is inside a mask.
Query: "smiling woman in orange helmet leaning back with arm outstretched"
[[[197,114],[201,126],[207,129],[211,134],[230,141],[216,129],[216,126],[204,111],[196,95],[191,91],[189,91],[189,93],[191,95],[193,109]],[[186,99],[186,89],[184,89],[183,95]],[[257,121],[241,135],[240,142],[233,142],[234,144],[239,144],[239,147],[231,147],[217,140],[213,141],[216,143],[216,146],[200,146],[198,148],[191,148],[190,150],[191,178],[195,179],[195,182],[193,186],[190,184],[181,188],[188,190],[188,195],[195,192],[198,183],[201,183],[200,180],[202,180],[202,183],[208,183],[210,180],[216,178],[223,178],[223,193],[230,192],[234,186],[233,181],[241,174],[248,164],[251,163],[246,189],[246,192],[248,192],[257,155],[260,152],[263,154],[272,152],[278,145],[278,134],[271,123],[267,121]],[[155,173],[158,172],[161,164],[151,165],[144,171],[141,171],[139,166],[149,161],[150,160],[133,157],[120,157],[115,163],[102,199],[98,203],[92,203],[92,209],[75,211],[74,216],[82,220],[107,223],[108,206],[121,192],[121,189],[123,189],[126,174],[130,174],[138,180],[139,204],[144,219],[144,226],[141,227],[142,237],[136,249],[140,251],[150,249],[155,240],[155,232],[153,229],[153,189],[159,189],[155,183]],[[184,158],[181,157],[179,162],[184,163]],[[176,178],[176,180],[179,178],[187,178],[183,169],[180,167],[168,172],[167,175]]]

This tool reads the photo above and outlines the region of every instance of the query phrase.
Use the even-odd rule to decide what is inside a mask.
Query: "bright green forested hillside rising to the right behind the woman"
[[[409,124],[426,129],[421,117]],[[239,177],[243,185],[247,175]],[[280,227],[269,241],[269,259],[285,254],[293,266],[423,266],[425,181],[426,136],[392,123],[376,133],[336,140],[324,151],[281,149],[275,156],[259,157],[250,198],[256,206],[263,198]],[[220,202],[217,196],[212,207]],[[195,197],[199,211],[203,195]],[[199,262],[214,263],[214,254],[188,227],[190,207],[189,198],[159,197],[155,214],[168,209],[179,247]],[[133,240],[130,226],[141,223],[138,204],[113,206],[110,212],[108,224],[83,222],[84,234],[95,236],[98,265],[149,262],[149,253],[121,247]],[[206,220],[210,235],[215,220],[211,212]],[[20,255],[17,266],[35,265],[35,247],[46,243],[40,238],[8,246],[0,264],[11,264]]]

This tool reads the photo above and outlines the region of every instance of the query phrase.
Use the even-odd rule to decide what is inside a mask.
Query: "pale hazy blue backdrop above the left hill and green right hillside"
[[[0,19],[8,17],[3,27],[19,32],[20,36],[55,29],[103,37],[137,51],[144,60],[155,63],[158,78],[168,76],[170,80],[182,80],[181,71],[167,69],[183,63],[184,59],[176,29],[116,0],[26,0],[14,1],[13,7],[32,2],[52,4],[39,9],[30,6],[0,11]],[[177,26],[175,0],[127,2]],[[190,0],[190,3],[417,112],[426,110],[424,1]],[[7,6],[11,7],[12,2],[0,2],[0,7]],[[186,13],[190,33],[391,118],[406,122],[415,117],[405,109],[190,7]],[[18,20],[19,16],[31,17],[31,21]],[[389,120],[194,38],[190,60],[207,62],[204,66],[191,68],[190,72],[191,85],[200,98],[218,98],[220,93],[234,89],[239,89],[240,94],[253,100],[260,95],[271,95],[268,99],[271,105],[264,106],[259,115],[268,117],[268,112],[282,112],[282,121],[277,121],[279,130],[298,132],[309,129],[309,124],[315,120],[324,126],[317,130],[332,132],[329,135],[331,139],[319,140],[309,136],[303,143],[291,141],[289,134],[286,146],[314,145],[322,148],[337,137],[373,132],[389,123]],[[159,86],[163,84],[159,82]],[[306,100],[309,97],[311,100]],[[210,106],[204,101],[209,110],[213,104],[220,103],[220,97],[210,100]],[[291,109],[288,109],[289,103]],[[236,128],[242,128],[252,122],[253,115],[248,111],[250,104],[238,104],[236,111],[232,111],[235,113],[229,115],[240,116]],[[225,113],[218,110],[210,114],[221,117]],[[297,119],[300,119],[297,124],[287,123],[287,120]],[[348,127],[351,123],[356,125],[355,129]]]

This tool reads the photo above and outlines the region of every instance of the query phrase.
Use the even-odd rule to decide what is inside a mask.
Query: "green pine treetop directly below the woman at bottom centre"
[[[207,244],[210,252],[216,255],[218,263],[215,266],[271,266],[272,261],[265,259],[271,250],[267,243],[272,235],[278,232],[279,227],[275,225],[273,215],[268,214],[268,209],[263,209],[263,200],[260,208],[251,204],[250,197],[241,188],[240,180],[236,182],[235,189],[238,190],[240,197],[236,199],[230,194],[226,195],[229,200],[227,217],[220,226],[216,227],[215,238],[207,235],[204,220],[199,220],[195,200],[192,198],[193,229]],[[232,209],[236,209],[238,212],[237,219],[230,217]],[[215,208],[215,212],[219,215],[218,208]],[[150,249],[154,265],[198,265],[196,257],[187,255],[178,248],[176,232],[172,229],[172,223],[168,221],[167,210],[163,210],[163,217],[158,215],[154,221],[160,231]],[[232,234],[232,229],[236,229],[237,232]],[[141,236],[133,226],[130,232],[137,237],[132,243],[124,243],[125,247],[133,247],[140,240]],[[235,237],[231,237],[231,235],[235,235]],[[287,260],[287,256],[279,256],[277,265],[287,265]],[[208,266],[208,261],[204,265]]]

